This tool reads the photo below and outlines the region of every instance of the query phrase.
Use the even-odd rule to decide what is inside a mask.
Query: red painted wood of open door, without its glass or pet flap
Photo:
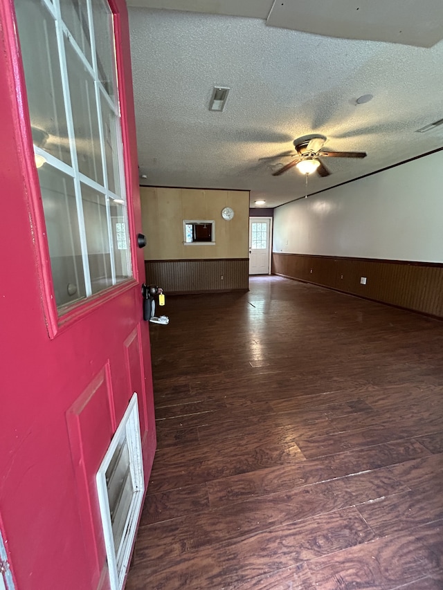
[[[57,318],[13,5],[0,0],[0,526],[18,590],[109,587],[95,475],[137,391],[155,450],[129,33],[114,0],[134,279]]]

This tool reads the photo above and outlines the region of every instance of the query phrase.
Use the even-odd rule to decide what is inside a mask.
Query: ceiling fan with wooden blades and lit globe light
[[[273,172],[272,176],[280,176],[283,172],[293,166],[302,174],[312,174],[318,172],[320,176],[329,176],[331,174],[327,167],[319,158],[365,158],[365,151],[329,151],[323,149],[326,137],[323,135],[310,135],[293,140],[296,148],[296,154],[293,154],[293,160],[289,164]],[[290,155],[290,154],[284,154]]]

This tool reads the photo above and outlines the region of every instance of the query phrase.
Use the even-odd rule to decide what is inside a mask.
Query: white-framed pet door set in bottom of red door
[[[121,590],[145,491],[136,393],[112,438],[96,481],[111,590]]]

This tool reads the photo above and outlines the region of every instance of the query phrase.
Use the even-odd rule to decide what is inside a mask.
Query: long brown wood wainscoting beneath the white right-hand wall
[[[443,264],[273,252],[272,272],[443,317]]]

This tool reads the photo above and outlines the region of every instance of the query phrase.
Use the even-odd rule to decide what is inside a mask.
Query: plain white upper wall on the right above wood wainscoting
[[[274,210],[273,251],[443,262],[443,151]]]

